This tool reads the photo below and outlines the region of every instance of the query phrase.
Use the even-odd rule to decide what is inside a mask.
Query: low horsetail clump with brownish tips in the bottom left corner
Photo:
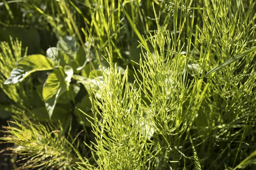
[[[25,114],[14,116],[14,119],[9,126],[3,127],[6,136],[0,139],[15,143],[6,150],[11,150],[11,155],[20,156],[18,169],[71,169],[77,159],[73,157],[73,148],[64,139],[61,126],[55,127],[50,122],[47,125],[35,124]]]

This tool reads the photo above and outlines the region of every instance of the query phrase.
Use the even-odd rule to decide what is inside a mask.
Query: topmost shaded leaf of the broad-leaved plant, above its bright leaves
[[[57,48],[59,51],[63,51],[70,57],[76,58],[76,37],[65,36],[60,38],[57,43]]]

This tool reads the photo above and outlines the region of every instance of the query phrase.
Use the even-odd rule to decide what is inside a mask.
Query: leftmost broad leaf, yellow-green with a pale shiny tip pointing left
[[[30,55],[17,61],[17,67],[12,70],[4,84],[21,82],[35,71],[52,70],[53,68],[54,63],[51,59],[41,54]]]

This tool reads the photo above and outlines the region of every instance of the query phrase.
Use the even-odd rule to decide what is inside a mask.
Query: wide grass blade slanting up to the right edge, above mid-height
[[[220,65],[218,65],[217,67],[215,67],[211,71],[209,71],[207,74],[205,74],[204,77],[208,76],[209,74],[214,73],[215,71],[220,70],[221,68],[226,67],[227,65],[230,65],[233,62],[236,62],[237,60],[247,56],[250,53],[253,53],[254,51],[256,51],[256,46],[254,46],[253,48],[250,48],[249,50],[244,51],[241,54],[236,55],[235,57],[227,60],[226,62],[221,63]],[[204,77],[202,77],[202,78],[204,78]]]

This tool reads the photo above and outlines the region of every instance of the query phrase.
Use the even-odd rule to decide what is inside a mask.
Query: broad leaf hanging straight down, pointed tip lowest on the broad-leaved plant
[[[67,85],[63,76],[61,71],[57,69],[47,77],[44,83],[43,98],[50,119],[59,96],[67,91]]]

